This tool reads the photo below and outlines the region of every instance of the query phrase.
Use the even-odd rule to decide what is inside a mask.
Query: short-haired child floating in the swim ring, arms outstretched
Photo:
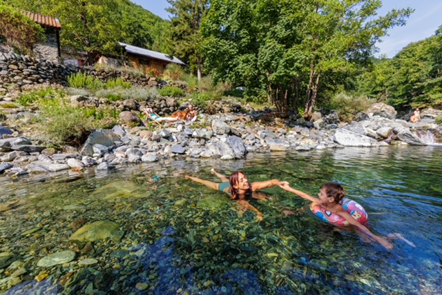
[[[385,248],[387,248],[387,249],[393,248],[393,245],[391,243],[389,243],[387,240],[385,240],[385,238],[381,238],[381,236],[376,236],[375,234],[370,232],[367,229],[367,227],[362,225],[358,221],[358,219],[360,219],[360,218],[355,218],[355,214],[352,216],[352,215],[350,215],[350,213],[347,210],[345,210],[343,205],[340,204],[340,201],[342,201],[345,197],[345,191],[344,191],[344,188],[341,185],[339,185],[338,183],[328,182],[328,183],[324,183],[323,185],[321,185],[320,191],[318,194],[319,198],[315,198],[313,196],[310,196],[309,194],[306,194],[305,192],[295,190],[294,188],[291,188],[285,182],[281,182],[280,187],[283,190],[287,190],[287,192],[293,192],[294,194],[297,194],[301,198],[311,201],[311,206],[310,206],[311,208],[313,208],[314,206],[320,206],[321,209],[324,209],[326,212],[329,212],[331,214],[335,214],[336,217],[338,217],[336,219],[336,222],[338,221],[339,217],[343,218],[343,220],[340,220],[340,222],[338,222],[338,224],[335,224],[335,225],[343,225],[343,226],[353,225],[358,230],[360,230],[361,232],[363,232],[364,234],[366,234],[370,238],[373,238],[375,241],[377,241],[378,243],[383,245]],[[358,212],[358,214],[361,214],[361,213]],[[356,214],[356,217],[358,217],[357,216],[358,214]],[[365,214],[365,218],[362,218],[360,220],[363,223],[365,223],[365,221],[367,221],[366,217],[367,217],[367,214]],[[332,223],[332,222],[330,222],[330,223]],[[332,223],[332,224],[334,224],[334,223]]]

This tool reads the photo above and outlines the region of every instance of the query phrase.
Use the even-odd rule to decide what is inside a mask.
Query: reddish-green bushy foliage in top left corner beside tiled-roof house
[[[26,54],[44,39],[44,30],[19,10],[0,5],[0,37],[21,54]]]

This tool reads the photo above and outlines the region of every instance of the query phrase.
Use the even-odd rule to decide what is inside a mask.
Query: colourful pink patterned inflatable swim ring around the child
[[[344,210],[347,211],[353,218],[355,218],[359,223],[365,223],[368,219],[367,212],[365,212],[364,208],[356,203],[353,200],[344,198],[339,202],[340,205],[343,206]],[[345,220],[342,216],[338,214],[334,214],[326,210],[325,207],[319,205],[318,203],[311,203],[310,210],[316,216],[318,216],[322,221],[327,223],[331,223],[332,225],[338,226],[347,226],[349,225],[348,221]]]

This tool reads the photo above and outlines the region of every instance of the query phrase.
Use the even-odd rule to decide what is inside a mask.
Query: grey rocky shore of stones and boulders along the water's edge
[[[8,96],[4,101],[10,101]],[[98,99],[71,96],[71,103],[92,103]],[[80,150],[56,152],[41,145],[36,136],[21,134],[14,128],[17,120],[29,116],[29,110],[9,110],[0,125],[0,174],[23,175],[35,172],[81,170],[94,166],[96,170],[111,170],[118,165],[155,162],[169,157],[242,159],[249,152],[312,150],[345,147],[384,147],[389,145],[427,145],[442,136],[442,126],[436,116],[442,111],[423,110],[419,123],[396,119],[396,111],[389,105],[376,103],[367,112],[357,114],[356,121],[342,123],[335,112],[314,113],[311,121],[302,118],[280,118],[269,109],[238,112],[235,103],[214,102],[215,114],[200,112],[198,121],[162,123],[129,128],[140,123],[140,110],[145,106],[160,114],[177,109],[173,98],[157,101],[117,102],[115,108],[120,124],[112,130],[95,130]],[[185,107],[186,103],[181,107]],[[31,112],[32,113],[32,112]],[[166,115],[166,114],[164,114]]]

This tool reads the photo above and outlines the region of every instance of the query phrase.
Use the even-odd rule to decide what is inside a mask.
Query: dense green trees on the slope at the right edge
[[[396,108],[442,107],[442,26],[434,36],[381,59],[358,79],[358,92]]]

